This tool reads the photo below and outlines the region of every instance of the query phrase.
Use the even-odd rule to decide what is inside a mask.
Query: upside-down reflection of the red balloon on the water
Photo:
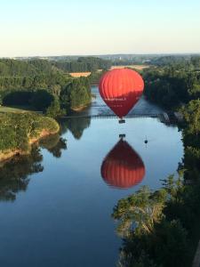
[[[145,166],[140,156],[121,139],[103,160],[100,173],[108,185],[127,189],[142,181]]]

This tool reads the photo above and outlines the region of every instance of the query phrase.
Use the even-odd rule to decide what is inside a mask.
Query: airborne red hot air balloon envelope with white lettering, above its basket
[[[100,96],[117,117],[124,117],[144,90],[140,74],[132,69],[112,69],[100,79]]]

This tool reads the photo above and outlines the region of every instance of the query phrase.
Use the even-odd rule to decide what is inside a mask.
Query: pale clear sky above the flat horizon
[[[199,53],[199,0],[0,0],[0,57]]]

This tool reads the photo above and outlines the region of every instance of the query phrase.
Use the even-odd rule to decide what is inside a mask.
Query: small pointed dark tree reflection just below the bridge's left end
[[[84,130],[91,125],[90,117],[73,117],[60,121],[62,134],[67,132],[67,129],[73,134],[76,139],[81,139]]]

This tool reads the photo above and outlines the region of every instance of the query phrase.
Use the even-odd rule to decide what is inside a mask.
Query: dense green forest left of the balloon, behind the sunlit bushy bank
[[[107,61],[95,58],[80,58],[77,62],[86,64],[90,71],[108,68]],[[92,77],[73,78],[68,69],[56,65],[56,61],[0,60],[0,104],[41,110],[51,117],[89,104],[95,72]]]

